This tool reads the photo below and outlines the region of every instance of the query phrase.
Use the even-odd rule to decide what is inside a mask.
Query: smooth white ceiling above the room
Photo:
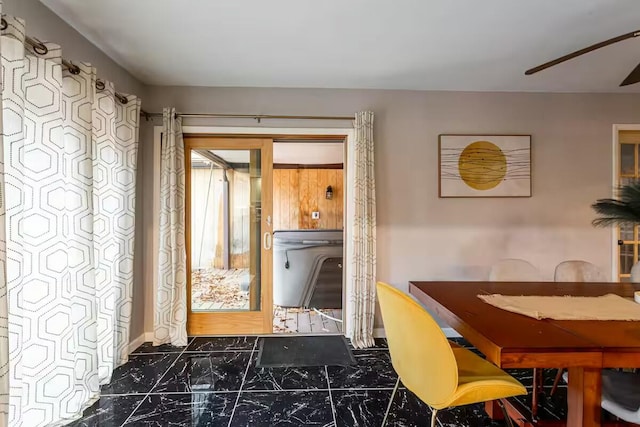
[[[618,88],[639,0],[41,0],[148,84],[472,91]]]

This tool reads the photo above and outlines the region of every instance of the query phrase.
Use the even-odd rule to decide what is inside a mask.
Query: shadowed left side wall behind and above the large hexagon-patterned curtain
[[[62,46],[63,56],[71,61],[81,60],[90,62],[98,69],[100,78],[110,80],[115,83],[116,89],[122,93],[135,94],[142,99],[143,108],[146,108],[147,86],[138,81],[124,68],[120,67],[111,58],[96,48],[80,33],[71,28],[67,23],[58,18],[53,12],[46,8],[38,0],[3,0],[2,12],[24,19],[27,22],[27,34],[47,40]],[[144,141],[151,141],[151,127],[144,120],[140,129],[141,154],[146,150]],[[143,158],[142,155],[139,156]],[[145,187],[144,179],[151,174],[145,169],[148,162],[139,162],[137,171],[138,182],[142,182],[141,190]],[[141,257],[141,250],[144,247],[143,239],[150,238],[150,230],[145,229],[144,212],[142,211],[142,197],[138,195],[136,200],[136,230],[144,230],[146,234],[136,234],[136,247],[134,260],[134,286],[133,286],[133,312],[131,317],[131,339],[140,336],[145,330],[144,325],[144,290],[142,283],[144,262]],[[150,305],[149,305],[150,306]]]

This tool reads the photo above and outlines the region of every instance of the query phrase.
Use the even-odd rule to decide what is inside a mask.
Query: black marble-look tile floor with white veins
[[[465,345],[464,341],[458,340]],[[72,426],[379,426],[396,374],[385,340],[354,350],[357,365],[258,368],[256,337],[193,338],[189,345],[145,343],[116,369],[102,397]],[[531,371],[513,371],[525,385]],[[545,382],[553,381],[550,371]],[[566,411],[564,390],[543,416]],[[524,399],[526,403],[527,399]],[[389,426],[429,425],[429,408],[401,388]],[[502,426],[482,405],[442,411],[439,425]]]

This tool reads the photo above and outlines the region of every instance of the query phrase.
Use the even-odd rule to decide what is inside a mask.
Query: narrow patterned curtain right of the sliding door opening
[[[376,307],[376,183],[373,162],[373,113],[356,113],[355,141],[348,148],[349,191],[347,336],[355,348],[371,347]]]

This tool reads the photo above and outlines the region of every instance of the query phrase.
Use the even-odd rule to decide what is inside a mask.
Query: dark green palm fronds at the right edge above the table
[[[600,199],[591,207],[600,215],[592,222],[596,227],[640,224],[640,182],[623,185],[617,199]]]

